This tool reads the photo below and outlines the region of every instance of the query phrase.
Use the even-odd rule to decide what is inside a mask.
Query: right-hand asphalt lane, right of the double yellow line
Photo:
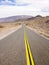
[[[26,28],[35,65],[49,65],[49,40]]]

